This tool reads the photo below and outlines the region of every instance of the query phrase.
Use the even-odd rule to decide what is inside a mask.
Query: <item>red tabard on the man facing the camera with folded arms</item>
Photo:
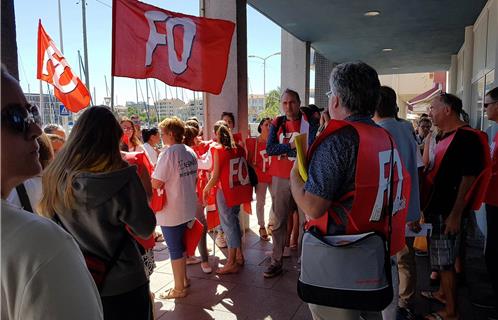
[[[278,143],[291,143],[294,137],[300,134],[301,120],[288,120],[285,123],[279,123],[280,117],[272,121],[272,126],[278,127],[277,139]],[[270,175],[280,178],[289,179],[290,171],[294,166],[295,157],[288,157],[287,154],[272,156],[270,165]]]

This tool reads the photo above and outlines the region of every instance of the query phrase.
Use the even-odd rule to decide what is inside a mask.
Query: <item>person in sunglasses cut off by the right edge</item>
[[[493,301],[498,301],[498,87],[489,91],[484,97],[484,110],[488,119],[494,124],[486,133],[491,149],[492,174],[486,192],[486,251],[484,253],[488,274],[495,294]],[[498,305],[495,305],[498,308]]]

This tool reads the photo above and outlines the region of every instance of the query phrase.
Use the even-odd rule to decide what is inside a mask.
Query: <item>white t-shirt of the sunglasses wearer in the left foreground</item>
[[[103,319],[102,302],[73,238],[2,200],[1,319]]]

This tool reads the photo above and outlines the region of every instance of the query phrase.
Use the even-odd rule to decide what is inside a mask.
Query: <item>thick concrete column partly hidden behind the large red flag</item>
[[[247,136],[247,19],[246,0],[200,0],[201,15],[236,23],[228,69],[219,95],[204,94],[204,134],[212,138],[213,125],[223,111],[235,115],[235,132]]]

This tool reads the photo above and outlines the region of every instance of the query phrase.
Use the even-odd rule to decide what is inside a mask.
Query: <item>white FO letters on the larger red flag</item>
[[[168,63],[170,70],[179,75],[185,72],[188,68],[188,60],[192,53],[192,44],[196,33],[195,23],[188,18],[172,18],[168,14],[161,11],[147,11],[145,18],[149,23],[149,39],[145,46],[145,66],[152,65],[152,56],[158,45],[166,45],[168,47]],[[166,23],[166,34],[158,33],[156,22]],[[175,39],[173,30],[175,27],[183,27],[183,52],[178,59],[175,52]]]

